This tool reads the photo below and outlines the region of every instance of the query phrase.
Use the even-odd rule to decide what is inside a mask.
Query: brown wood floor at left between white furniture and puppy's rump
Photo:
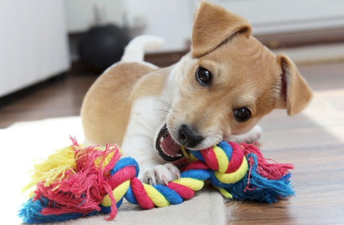
[[[50,80],[24,96],[2,102],[0,128],[20,121],[79,115],[85,93],[96,78],[87,73],[67,74],[64,79]]]

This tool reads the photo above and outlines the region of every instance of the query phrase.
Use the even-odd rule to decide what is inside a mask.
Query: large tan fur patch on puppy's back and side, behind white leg
[[[101,75],[88,90],[81,109],[87,141],[120,146],[133,101],[158,95],[168,71],[140,63],[119,63]]]

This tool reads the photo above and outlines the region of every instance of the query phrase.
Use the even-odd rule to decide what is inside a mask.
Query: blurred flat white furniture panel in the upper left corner
[[[67,71],[62,0],[0,0],[0,96]]]

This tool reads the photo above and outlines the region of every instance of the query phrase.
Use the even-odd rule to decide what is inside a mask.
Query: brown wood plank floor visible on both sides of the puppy
[[[293,163],[295,197],[267,204],[242,201],[230,224],[344,224],[344,62],[299,70],[315,92],[310,106],[288,117],[276,110],[261,121],[266,158]],[[95,75],[66,78],[0,105],[0,128],[27,120],[78,115]]]

